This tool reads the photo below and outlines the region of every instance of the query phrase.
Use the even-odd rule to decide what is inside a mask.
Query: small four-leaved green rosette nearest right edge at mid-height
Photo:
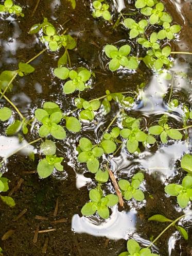
[[[183,138],[183,135],[178,129],[172,129],[167,124],[168,118],[166,115],[163,115],[158,124],[149,127],[149,133],[152,135],[160,135],[160,139],[162,143],[167,143],[167,137],[173,139],[173,140],[181,140]]]

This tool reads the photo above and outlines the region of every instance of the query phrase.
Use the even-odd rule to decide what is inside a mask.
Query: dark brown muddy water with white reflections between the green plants
[[[16,69],[19,60],[27,61],[43,49],[44,46],[37,39],[37,36],[28,34],[33,24],[41,23],[43,17],[46,17],[57,29],[63,29],[61,25],[69,19],[64,25],[64,29],[68,29],[69,34],[77,38],[77,48],[69,51],[72,66],[89,67],[96,74],[93,89],[83,92],[81,97],[90,100],[104,95],[106,90],[111,92],[134,91],[139,84],[146,82],[145,95],[150,100],[137,102],[136,107],[129,114],[134,117],[143,117],[145,122],[151,125],[167,111],[165,102],[170,93],[169,83],[165,82],[162,85],[162,88],[165,88],[165,92],[163,91],[165,98],[162,99],[159,96],[162,93],[162,88],[156,82],[152,72],[143,63],[139,65],[136,72],[130,72],[129,74],[111,73],[107,69],[107,60],[104,59],[102,54],[103,46],[106,43],[117,43],[118,45],[129,43],[133,46],[133,42],[128,39],[127,31],[123,27],[119,26],[118,29],[112,30],[111,24],[103,22],[102,19],[93,19],[90,1],[77,0],[76,9],[73,10],[68,1],[40,0],[34,13],[36,1],[19,0],[15,2],[25,7],[25,17],[16,18],[15,20],[1,18],[1,71]],[[134,1],[113,2],[111,8],[116,13],[113,18],[114,21],[118,18],[116,6],[120,6],[120,3],[125,4],[126,11],[131,12],[133,10]],[[192,52],[192,4],[190,1],[163,1],[163,3],[172,15],[173,20],[182,25],[179,38],[171,43],[172,49]],[[62,111],[75,108],[74,95],[65,96],[62,94],[62,84],[53,75],[53,69],[57,67],[58,58],[62,55],[61,52],[61,50],[57,54],[45,52],[32,62],[36,69],[34,73],[24,78],[17,77],[15,79],[14,89],[8,95],[25,116],[32,117],[34,109],[42,106],[42,100],[58,103]],[[142,54],[142,48],[134,48],[134,54],[138,52]],[[175,69],[176,71],[184,70],[188,79],[181,80],[175,76],[173,89],[173,95],[181,101],[181,104],[187,104],[188,106],[190,106],[191,99],[191,64],[190,57],[183,55],[178,57]],[[5,105],[3,100],[1,103]],[[151,108],[151,103],[153,108]],[[13,209],[0,202],[0,237],[8,230],[14,230],[14,233],[7,240],[0,242],[0,247],[4,250],[5,256],[42,255],[44,254],[42,250],[47,237],[46,255],[117,256],[120,252],[126,250],[126,240],[130,235],[136,234],[134,237],[138,238],[141,244],[146,245],[146,241],[158,236],[166,227],[167,224],[149,222],[147,219],[150,216],[162,214],[176,219],[182,214],[181,209],[177,207],[175,197],[171,198],[165,195],[164,183],[168,180],[178,182],[184,177],[185,174],[182,170],[180,168],[174,169],[173,165],[184,152],[190,151],[190,139],[188,144],[185,142],[171,142],[159,149],[153,147],[150,150],[143,151],[141,156],[135,159],[130,156],[126,158],[125,152],[118,153],[116,157],[111,159],[111,166],[115,175],[120,178],[132,177],[132,174],[136,173],[139,168],[154,168],[153,171],[145,173],[146,202],[139,204],[126,203],[125,209],[119,207],[119,213],[116,209],[110,222],[101,222],[97,217],[88,218],[88,220],[84,220],[85,218],[82,217],[81,208],[89,200],[88,188],[94,187],[95,183],[89,179],[94,176],[87,173],[83,176],[85,168],[75,163],[73,151],[80,136],[86,135],[96,141],[102,134],[102,129],[108,126],[117,111],[118,106],[113,104],[112,111],[102,120],[101,126],[96,122],[91,127],[86,124],[80,134],[71,135],[64,143],[57,143],[57,155],[65,159],[64,174],[54,174],[43,180],[39,179],[37,173],[31,173],[31,171],[37,169],[38,154],[34,161],[19,154],[9,159],[8,172],[4,176],[11,181],[10,191],[21,179],[23,179],[23,182],[18,190],[12,193],[16,202]],[[171,115],[171,124],[173,127],[182,127],[182,119],[178,112]],[[4,129],[4,124],[1,124],[1,129]],[[2,132],[2,134],[4,133]],[[38,138],[36,129],[25,136],[27,141],[36,138]],[[8,147],[11,147],[11,144]],[[168,167],[170,172],[166,170],[159,172],[158,168],[155,169],[155,167]],[[177,167],[179,167],[178,162]],[[82,184],[78,182],[78,179],[82,179]],[[104,188],[107,191],[114,191],[110,181]],[[5,195],[8,193],[5,193]],[[57,199],[59,201],[58,214],[54,217]],[[26,213],[14,221],[15,217],[24,209],[26,209]],[[48,219],[36,219],[36,215]],[[62,223],[54,224],[52,222],[63,218],[64,222]],[[125,221],[125,224],[123,226],[119,225],[118,229],[116,224],[119,221]],[[184,223],[181,221],[180,224],[188,230],[188,241],[184,241],[174,228],[170,228],[156,243],[156,253],[161,256],[192,255],[191,221],[185,221]],[[38,225],[40,225],[40,230],[50,228],[56,230],[39,234],[37,243],[33,243],[34,231]]]

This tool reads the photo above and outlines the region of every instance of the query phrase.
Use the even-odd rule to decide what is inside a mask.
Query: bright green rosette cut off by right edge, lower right
[[[189,201],[192,201],[192,177],[187,175],[183,178],[182,184],[168,184],[165,192],[170,196],[177,196],[177,202],[181,208],[185,208]]]

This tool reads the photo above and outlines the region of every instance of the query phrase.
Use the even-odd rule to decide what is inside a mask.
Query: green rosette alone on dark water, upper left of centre
[[[65,94],[73,93],[75,90],[84,91],[87,86],[86,82],[91,78],[91,72],[84,67],[80,67],[77,71],[69,70],[67,67],[57,67],[54,74],[62,80],[71,79],[63,86]]]

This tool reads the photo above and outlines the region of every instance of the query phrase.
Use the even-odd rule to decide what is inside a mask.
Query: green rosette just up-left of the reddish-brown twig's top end
[[[86,163],[86,167],[91,173],[96,173],[99,169],[99,161],[103,155],[103,149],[98,145],[93,145],[92,142],[87,138],[81,138],[77,147],[78,161],[80,163]]]

